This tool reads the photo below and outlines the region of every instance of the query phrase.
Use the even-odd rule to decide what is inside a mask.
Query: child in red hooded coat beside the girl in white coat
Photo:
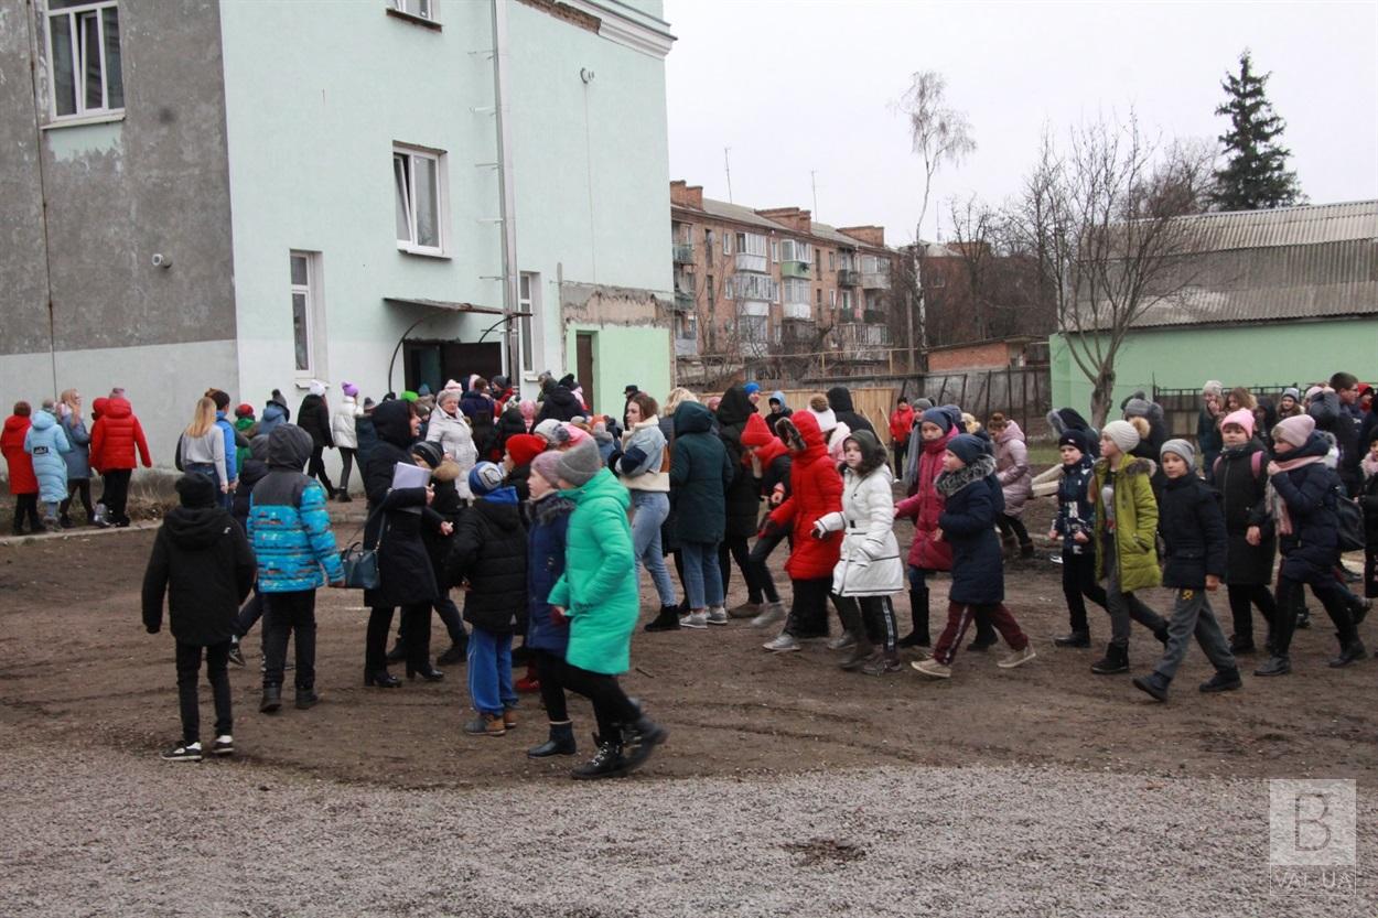
[[[842,533],[830,532],[819,539],[813,521],[842,510],[842,476],[828,458],[819,420],[809,412],[779,422],[781,440],[790,447],[790,499],[766,520],[762,536],[792,531],[794,549],[784,569],[794,586],[794,600],[784,630],[763,646],[773,652],[798,651],[799,641],[827,637],[828,593],[832,569],[842,551]]]

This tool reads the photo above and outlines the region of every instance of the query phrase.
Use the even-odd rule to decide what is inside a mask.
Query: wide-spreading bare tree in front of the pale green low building
[[[1093,423],[1109,414],[1115,360],[1151,306],[1197,273],[1203,225],[1199,157],[1145,138],[1137,120],[1075,128],[1064,149],[1045,134],[1010,226],[1039,270],[1072,363],[1091,383]]]

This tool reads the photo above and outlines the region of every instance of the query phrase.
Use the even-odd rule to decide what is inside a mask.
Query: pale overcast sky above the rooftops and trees
[[[1153,134],[1218,136],[1221,79],[1244,47],[1312,203],[1378,197],[1378,1],[918,3],[666,0],[670,172],[757,208],[914,238],[922,170],[892,103],[938,70],[978,149],[938,172],[947,200],[1017,192],[1045,124],[1133,108]],[[947,222],[947,221],[944,221]]]

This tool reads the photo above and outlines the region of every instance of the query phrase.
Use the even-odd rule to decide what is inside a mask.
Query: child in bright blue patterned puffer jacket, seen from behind
[[[313,707],[316,695],[316,590],[344,582],[335,550],[325,489],[302,474],[311,458],[311,434],[278,425],[267,438],[269,473],[254,487],[248,533],[258,558],[263,594],[263,700],[271,714],[282,706],[287,641],[296,634],[296,707]]]

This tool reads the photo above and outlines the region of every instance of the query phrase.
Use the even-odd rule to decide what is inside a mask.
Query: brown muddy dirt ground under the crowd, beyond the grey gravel
[[[1050,507],[1031,509],[1031,531],[1046,531]],[[357,514],[357,511],[356,511]],[[342,524],[347,533],[351,525]],[[901,528],[901,544],[908,543]],[[152,757],[179,735],[172,640],[143,631],[139,582],[152,531],[32,540],[0,546],[0,729],[61,739],[95,753]],[[1097,677],[1089,664],[1108,635],[1091,609],[1090,651],[1058,649],[1067,630],[1060,568],[1040,549],[1006,572],[1007,605],[1032,637],[1038,659],[1011,671],[995,653],[958,656],[951,682],[918,673],[885,678],[842,673],[821,644],[770,655],[770,637],[733,622],[725,629],[645,634],[633,644],[624,684],[670,728],[670,743],[638,780],[768,777],[896,765],[1034,765],[1090,772],[1182,777],[1355,777],[1378,772],[1372,704],[1375,663],[1330,670],[1335,644],[1322,623],[1299,631],[1295,673],[1248,675],[1244,689],[1204,696],[1210,675],[1193,648],[1170,703],[1155,704],[1127,677]],[[772,560],[779,572],[784,557]],[[777,582],[787,583],[781,573]],[[947,583],[934,589],[934,637]],[[644,618],[653,613],[644,584]],[[744,598],[733,575],[732,601]],[[1166,611],[1166,591],[1148,601]],[[1224,597],[1214,601],[1228,619]],[[362,685],[367,611],[356,591],[322,590],[318,600],[317,688],[311,711],[256,708],[255,633],[248,669],[233,669],[236,768],[284,776],[398,788],[493,787],[566,782],[569,759],[533,762],[525,748],[544,737],[536,696],[522,702],[521,726],[502,739],[467,737],[464,669],[441,684],[397,691]],[[897,600],[901,626],[908,605]],[[834,627],[836,622],[834,620]],[[1372,626],[1364,626],[1364,630]],[[1137,626],[1135,626],[1137,629]],[[1228,623],[1226,623],[1228,630]],[[433,649],[445,646],[435,622]],[[1135,630],[1131,663],[1145,673],[1159,645]],[[400,669],[400,667],[398,667]],[[588,751],[587,704],[572,706],[580,751]],[[203,718],[209,696],[203,688]]]

